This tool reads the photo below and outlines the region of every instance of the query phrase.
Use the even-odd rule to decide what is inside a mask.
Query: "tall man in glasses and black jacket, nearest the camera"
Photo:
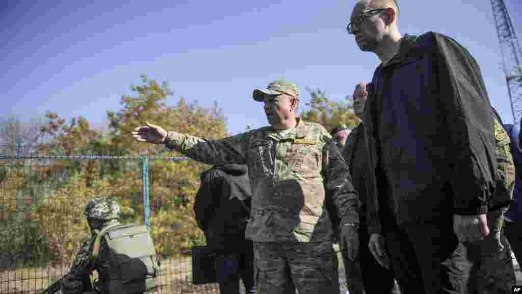
[[[464,47],[440,33],[401,36],[398,18],[395,1],[362,0],[347,27],[359,49],[381,61],[363,119],[368,217],[380,218],[369,220],[369,246],[383,266],[392,263],[402,293],[464,293],[469,264],[455,265],[455,255],[466,254],[456,248],[489,234],[490,101]]]

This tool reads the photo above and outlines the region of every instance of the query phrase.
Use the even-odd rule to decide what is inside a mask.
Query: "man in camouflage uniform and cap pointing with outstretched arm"
[[[270,126],[207,140],[147,123],[133,137],[206,164],[248,166],[252,211],[245,235],[254,241],[259,293],[284,293],[291,282],[300,294],[338,293],[332,218],[341,221],[340,239],[352,258],[358,250],[358,196],[348,165],[321,125],[296,118],[294,83],[272,82],[253,98],[264,102]]]

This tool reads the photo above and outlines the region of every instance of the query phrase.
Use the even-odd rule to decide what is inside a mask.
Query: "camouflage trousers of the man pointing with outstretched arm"
[[[339,293],[337,256],[330,241],[254,242],[259,294]]]

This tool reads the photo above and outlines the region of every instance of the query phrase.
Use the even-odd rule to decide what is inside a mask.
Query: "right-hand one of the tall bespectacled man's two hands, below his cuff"
[[[475,216],[453,215],[453,231],[460,243],[483,240],[489,235],[488,218],[486,214]]]

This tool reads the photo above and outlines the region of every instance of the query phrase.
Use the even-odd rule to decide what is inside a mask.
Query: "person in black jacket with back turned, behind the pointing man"
[[[216,253],[221,293],[239,294],[239,279],[255,293],[252,241],[245,239],[251,190],[245,165],[216,165],[201,173],[194,212],[207,245]]]

